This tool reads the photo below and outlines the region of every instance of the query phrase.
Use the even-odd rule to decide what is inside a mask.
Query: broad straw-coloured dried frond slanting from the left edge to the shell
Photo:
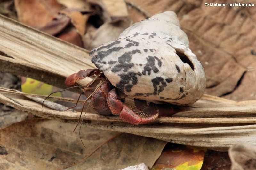
[[[56,39],[0,15],[0,71],[19,73],[45,83],[67,88],[63,84],[71,73],[95,68],[88,51]],[[17,48],[17,45],[19,48]],[[82,56],[82,57],[81,57]],[[40,63],[40,64],[38,64]],[[85,83],[88,80],[85,80]]]

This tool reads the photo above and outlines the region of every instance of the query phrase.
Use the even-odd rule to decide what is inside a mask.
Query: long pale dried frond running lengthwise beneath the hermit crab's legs
[[[17,95],[17,92],[13,93],[3,88],[0,90],[0,102],[19,110],[30,112],[40,117],[65,122],[77,122],[80,117],[80,112],[55,111],[45,107],[42,108],[41,104],[27,100],[25,96],[22,96],[21,92],[19,92],[20,95]],[[237,114],[236,116],[244,115],[245,112],[243,110],[247,109],[247,106],[254,109],[256,108],[256,101],[252,101],[252,103],[227,102],[230,100],[217,97],[210,98],[210,96],[203,96],[199,101],[202,101],[200,103],[208,105],[209,108],[200,107],[200,103],[198,103],[198,105],[195,103],[195,106],[192,105],[190,108],[194,109],[194,111],[190,110],[181,113],[186,115],[186,112],[190,112],[190,115],[193,114],[192,116],[195,116],[197,112],[205,114],[209,113],[210,115],[214,113],[212,115],[213,118],[160,117],[155,122],[152,122],[153,124],[134,126],[123,122],[115,115],[107,116],[86,113],[84,119],[90,120],[90,122],[85,123],[85,126],[96,129],[132,133],[161,139],[167,142],[207,147],[214,150],[227,150],[228,147],[241,140],[247,144],[253,144],[255,142],[256,132],[254,129],[256,128],[256,125],[251,124],[256,121],[254,117],[216,118],[216,115],[220,114],[223,116],[223,114],[226,114],[225,117],[231,117],[234,113]],[[224,101],[226,102],[224,103]],[[229,107],[218,108],[218,105],[221,104]],[[212,109],[212,111],[207,109]],[[256,114],[256,111],[251,110],[251,112],[248,113],[248,115],[251,116],[252,114]]]

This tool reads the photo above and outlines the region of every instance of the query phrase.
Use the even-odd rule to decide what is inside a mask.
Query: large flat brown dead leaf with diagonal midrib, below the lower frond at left
[[[90,154],[94,148],[119,132],[82,127],[73,133],[74,124],[53,120],[31,120],[0,130],[0,169],[57,169],[71,165]],[[94,152],[74,168],[122,169],[145,162],[147,166],[161,154],[166,142],[122,134]],[[150,155],[150,159],[147,155]],[[106,162],[108,162],[106,164]]]

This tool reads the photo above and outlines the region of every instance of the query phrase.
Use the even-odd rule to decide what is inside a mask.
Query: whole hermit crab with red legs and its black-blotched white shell
[[[133,24],[116,41],[94,48],[89,55],[98,69],[72,74],[66,85],[95,75],[85,88],[90,106],[100,114],[118,114],[131,124],[172,115],[174,105],[192,104],[205,90],[204,68],[172,11]],[[100,84],[92,88],[96,82]],[[134,98],[141,114],[123,103],[127,96]]]

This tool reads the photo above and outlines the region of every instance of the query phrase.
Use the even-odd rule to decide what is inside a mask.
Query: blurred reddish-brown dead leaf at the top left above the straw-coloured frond
[[[15,0],[14,2],[19,21],[35,28],[45,26],[58,11],[63,9],[63,5],[56,0]]]

